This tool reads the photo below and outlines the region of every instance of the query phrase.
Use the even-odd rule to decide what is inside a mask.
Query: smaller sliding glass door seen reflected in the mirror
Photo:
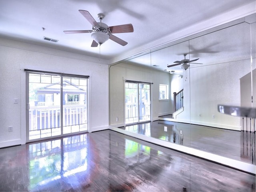
[[[150,84],[125,83],[125,123],[150,121]]]

